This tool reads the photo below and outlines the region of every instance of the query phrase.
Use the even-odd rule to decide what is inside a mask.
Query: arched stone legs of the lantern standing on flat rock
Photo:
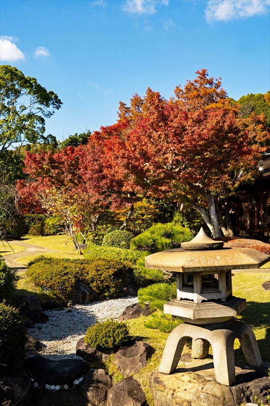
[[[164,348],[159,372],[171,374],[177,367],[183,347],[188,337],[194,341],[208,341],[213,350],[216,381],[222,385],[235,382],[234,342],[239,338],[247,363],[259,368],[262,360],[254,333],[246,323],[231,320],[221,324],[195,325],[180,324],[168,337]]]

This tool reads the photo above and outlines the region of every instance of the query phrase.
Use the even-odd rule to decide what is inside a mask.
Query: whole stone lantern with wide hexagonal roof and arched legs
[[[151,254],[145,266],[176,273],[177,298],[164,304],[164,313],[184,321],[169,335],[159,371],[175,370],[188,337],[192,337],[192,356],[208,355],[209,343],[217,382],[235,382],[234,341],[239,339],[247,363],[259,368],[262,360],[255,335],[249,325],[231,320],[246,308],[246,299],[232,296],[232,269],[258,268],[270,256],[250,248],[222,248],[222,241],[211,240],[201,228],[180,249]]]

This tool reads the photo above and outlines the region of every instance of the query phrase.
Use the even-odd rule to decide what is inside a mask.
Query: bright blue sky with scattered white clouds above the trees
[[[1,63],[63,102],[46,133],[117,120],[119,100],[149,86],[169,98],[198,69],[230,97],[266,93],[269,0],[1,0]]]

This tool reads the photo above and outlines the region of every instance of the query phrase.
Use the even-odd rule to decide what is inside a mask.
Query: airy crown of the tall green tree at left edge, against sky
[[[35,78],[16,67],[0,66],[0,158],[16,144],[46,141],[45,118],[59,110],[62,101]]]

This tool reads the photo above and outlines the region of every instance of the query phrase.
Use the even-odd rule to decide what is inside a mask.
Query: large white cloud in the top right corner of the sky
[[[270,0],[209,0],[205,15],[207,21],[233,20],[265,14]]]

